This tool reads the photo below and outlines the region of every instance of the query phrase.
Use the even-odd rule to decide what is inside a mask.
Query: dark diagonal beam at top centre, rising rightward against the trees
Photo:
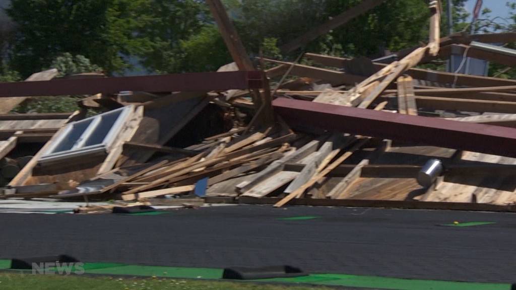
[[[330,30],[346,24],[350,20],[369,11],[370,9],[375,8],[383,2],[385,2],[385,0],[363,0],[357,6],[351,7],[350,9],[342,12],[341,14],[332,17],[329,21],[325,22],[324,24],[314,27],[308,30],[303,35],[292,40],[291,42],[280,46],[280,50],[284,53],[292,52],[298,49],[299,47],[309,43],[310,41],[316,39],[317,37],[330,32]]]

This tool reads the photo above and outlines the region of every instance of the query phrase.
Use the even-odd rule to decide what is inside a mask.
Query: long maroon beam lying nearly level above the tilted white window
[[[257,89],[263,86],[263,75],[264,73],[260,71],[203,72],[0,83],[0,98],[118,93],[120,91],[172,92]]]

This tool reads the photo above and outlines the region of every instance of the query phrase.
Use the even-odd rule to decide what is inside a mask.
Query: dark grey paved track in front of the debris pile
[[[318,216],[310,220],[281,217]],[[223,206],[157,216],[1,214],[0,259],[228,267],[514,282],[516,215],[377,208]],[[476,227],[438,224],[492,221]]]

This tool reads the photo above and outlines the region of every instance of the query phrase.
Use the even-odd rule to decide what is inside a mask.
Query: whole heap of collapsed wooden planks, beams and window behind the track
[[[440,39],[433,1],[426,46],[378,61],[302,55],[311,66],[262,58],[277,66],[256,71],[220,1],[208,3],[235,61],[218,72],[50,80],[47,71],[0,84],[3,113],[28,96],[90,95],[73,114],[0,115],[2,173],[17,173],[3,176],[0,197],[516,210],[516,80],[469,74],[471,59],[516,63],[516,51],[486,44],[516,34]],[[459,63],[415,68],[436,59]],[[92,107],[105,112],[86,118]]]

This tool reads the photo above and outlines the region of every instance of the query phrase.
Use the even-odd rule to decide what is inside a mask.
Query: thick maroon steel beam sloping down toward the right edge
[[[355,107],[276,99],[273,108],[289,125],[516,157],[516,129],[394,114]]]

